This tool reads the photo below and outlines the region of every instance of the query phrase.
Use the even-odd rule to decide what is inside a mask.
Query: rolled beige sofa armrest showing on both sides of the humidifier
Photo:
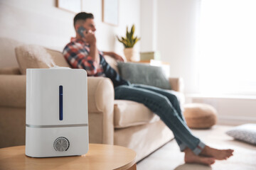
[[[26,75],[0,74],[0,106],[26,107]],[[114,106],[114,87],[110,79],[88,77],[88,111],[105,112]]]

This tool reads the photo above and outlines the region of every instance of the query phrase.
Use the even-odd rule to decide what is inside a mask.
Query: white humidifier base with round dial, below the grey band
[[[65,157],[86,154],[88,151],[87,126],[63,128],[29,126],[31,125],[26,126],[28,157]]]

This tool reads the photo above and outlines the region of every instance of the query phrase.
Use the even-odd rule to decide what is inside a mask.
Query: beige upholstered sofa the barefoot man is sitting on
[[[9,45],[0,49],[0,55],[16,59],[14,47],[21,45],[21,42],[0,38],[0,47],[1,43]],[[31,48],[33,45],[16,48],[20,64],[26,60],[22,57],[35,55],[29,52]],[[68,67],[60,52],[43,49],[45,51],[42,52],[48,52],[56,64]],[[42,52],[38,50],[38,53]],[[117,62],[110,57],[106,58],[112,67],[117,69]],[[35,60],[33,57],[32,59]],[[28,67],[29,62],[35,64],[35,61],[28,61],[25,62],[25,67]],[[46,66],[41,61],[36,62],[36,67]],[[25,144],[26,74],[21,74],[26,70],[25,67],[23,63],[22,67],[0,69],[0,147]],[[170,78],[169,82],[172,89],[179,91],[177,94],[182,96],[181,79]],[[88,77],[88,106],[90,142],[122,145],[134,149],[137,152],[137,162],[174,138],[171,130],[143,104],[114,100],[114,89],[110,79]]]

